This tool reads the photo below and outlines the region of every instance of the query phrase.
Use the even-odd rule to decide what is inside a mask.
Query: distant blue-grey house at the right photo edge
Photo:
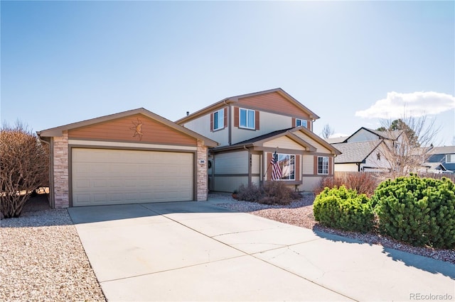
[[[455,172],[455,146],[427,148],[427,157],[424,162],[427,172]]]

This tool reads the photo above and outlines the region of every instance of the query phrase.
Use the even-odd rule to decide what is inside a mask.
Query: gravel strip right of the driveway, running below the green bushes
[[[267,206],[260,203],[252,203],[248,201],[237,201],[227,194],[210,194],[211,197],[226,202],[217,203],[217,206],[229,208],[234,211],[251,213],[253,215],[264,218],[277,220],[282,223],[297,225],[302,228],[319,230],[326,233],[341,235],[362,242],[367,242],[374,245],[382,245],[403,252],[410,252],[416,255],[422,255],[445,262],[455,264],[455,250],[437,250],[431,247],[413,247],[403,242],[393,240],[390,237],[385,237],[375,233],[361,234],[354,232],[344,232],[342,230],[333,230],[319,225],[313,216],[313,201],[314,195],[309,194],[303,196],[299,201],[294,201],[289,206]]]

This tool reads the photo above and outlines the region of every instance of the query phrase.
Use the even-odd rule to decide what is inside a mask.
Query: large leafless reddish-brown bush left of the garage
[[[48,184],[47,145],[21,122],[0,130],[0,212],[18,217],[31,193]]]

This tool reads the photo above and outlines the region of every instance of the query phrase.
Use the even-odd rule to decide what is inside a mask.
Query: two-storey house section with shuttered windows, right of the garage
[[[234,191],[240,184],[272,180],[272,155],[279,181],[311,191],[333,176],[340,152],[313,133],[319,116],[283,89],[232,96],[176,121],[220,144],[209,150],[209,189]]]

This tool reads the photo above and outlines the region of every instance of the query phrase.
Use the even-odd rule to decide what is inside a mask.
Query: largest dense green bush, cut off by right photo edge
[[[412,245],[455,247],[454,183],[442,179],[388,179],[372,197],[380,232]]]

